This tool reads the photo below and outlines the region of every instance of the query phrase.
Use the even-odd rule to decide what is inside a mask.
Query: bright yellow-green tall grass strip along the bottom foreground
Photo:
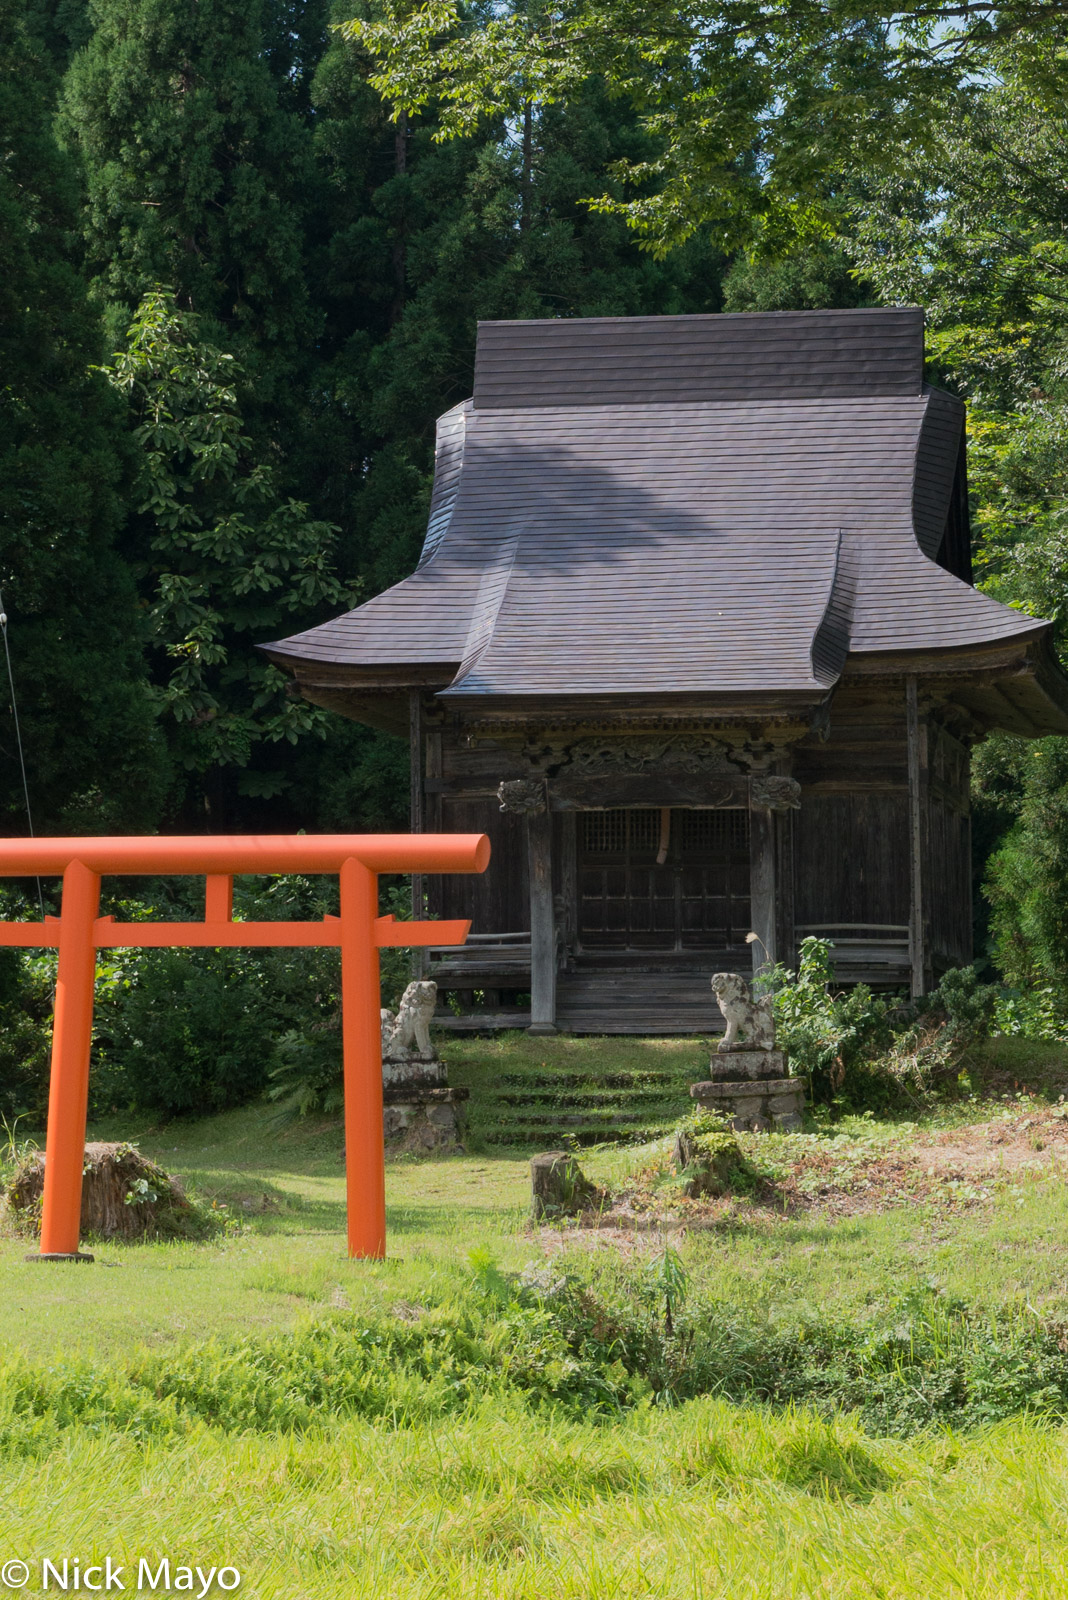
[[[1066,1442],[899,1445],[723,1402],[612,1430],[494,1408],[179,1448],[75,1434],[5,1472],[5,1554],[169,1552],[262,1600],[1062,1600]]]

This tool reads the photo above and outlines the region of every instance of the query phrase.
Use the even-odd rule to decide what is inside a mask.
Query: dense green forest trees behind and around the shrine
[[[978,582],[1063,659],[1066,26],[1046,0],[0,0],[29,787],[5,694],[3,830],[27,798],[38,832],[404,826],[400,741],[254,645],[411,571],[478,318],[921,304],[969,403]],[[974,800],[978,958],[1063,1018],[1068,741],[988,741]],[[233,955],[141,960],[114,989],[141,982],[142,1032],[152,962],[256,1011]],[[14,1037],[32,962],[0,979]]]

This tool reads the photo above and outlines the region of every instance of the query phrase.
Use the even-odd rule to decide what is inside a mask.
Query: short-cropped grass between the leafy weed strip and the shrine
[[[547,1042],[539,1046],[545,1051]],[[990,1110],[970,1104],[932,1120],[951,1126]],[[96,1138],[136,1139],[201,1202],[225,1206],[235,1232],[201,1245],[102,1245],[96,1266],[77,1278],[27,1266],[26,1242],[0,1235],[0,1349],[91,1355],[288,1326],[339,1296],[355,1309],[373,1309],[389,1296],[419,1298],[427,1285],[448,1282],[473,1246],[488,1248],[508,1269],[537,1254],[526,1232],[528,1157],[489,1149],[440,1162],[392,1160],[390,1258],[381,1266],[350,1262],[339,1126],[277,1133],[269,1118],[269,1110],[251,1107],[157,1131],[94,1126]],[[911,1136],[910,1126],[863,1118],[833,1133],[833,1147],[843,1149]],[[785,1147],[777,1138],[763,1144],[772,1163]],[[611,1146],[582,1155],[585,1171],[608,1184],[636,1158],[640,1152]],[[660,1246],[654,1234],[636,1237],[630,1248],[648,1256]],[[927,1280],[977,1304],[1023,1298],[1041,1310],[1068,1309],[1068,1187],[1044,1176],[1006,1179],[990,1203],[950,1216],[908,1206],[839,1221],[772,1222],[740,1211],[687,1234],[679,1248],[697,1282],[715,1282],[724,1299],[782,1315],[809,1307],[862,1314]]]

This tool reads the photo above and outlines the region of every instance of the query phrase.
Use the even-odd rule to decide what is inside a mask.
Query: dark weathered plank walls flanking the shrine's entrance
[[[932,976],[972,958],[969,755],[937,722],[923,723],[924,946]],[[481,877],[427,878],[430,910],[470,917],[476,933],[529,928],[526,819],[502,813],[491,782],[512,776],[504,752],[470,750],[430,731],[425,826],[484,832]],[[908,746],[903,690],[843,686],[827,738],[793,750],[801,810],[777,819],[780,958],[796,960],[793,930],[854,923],[905,928],[911,907]],[[465,787],[465,795],[443,789]],[[472,794],[472,790],[475,790]],[[481,790],[481,792],[478,792]],[[560,933],[574,942],[576,814],[553,814],[553,890]],[[801,936],[799,934],[799,936]]]

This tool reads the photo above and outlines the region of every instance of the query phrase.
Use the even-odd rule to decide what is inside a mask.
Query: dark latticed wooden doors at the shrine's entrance
[[[745,950],[748,810],[619,808],[577,821],[579,955]]]

